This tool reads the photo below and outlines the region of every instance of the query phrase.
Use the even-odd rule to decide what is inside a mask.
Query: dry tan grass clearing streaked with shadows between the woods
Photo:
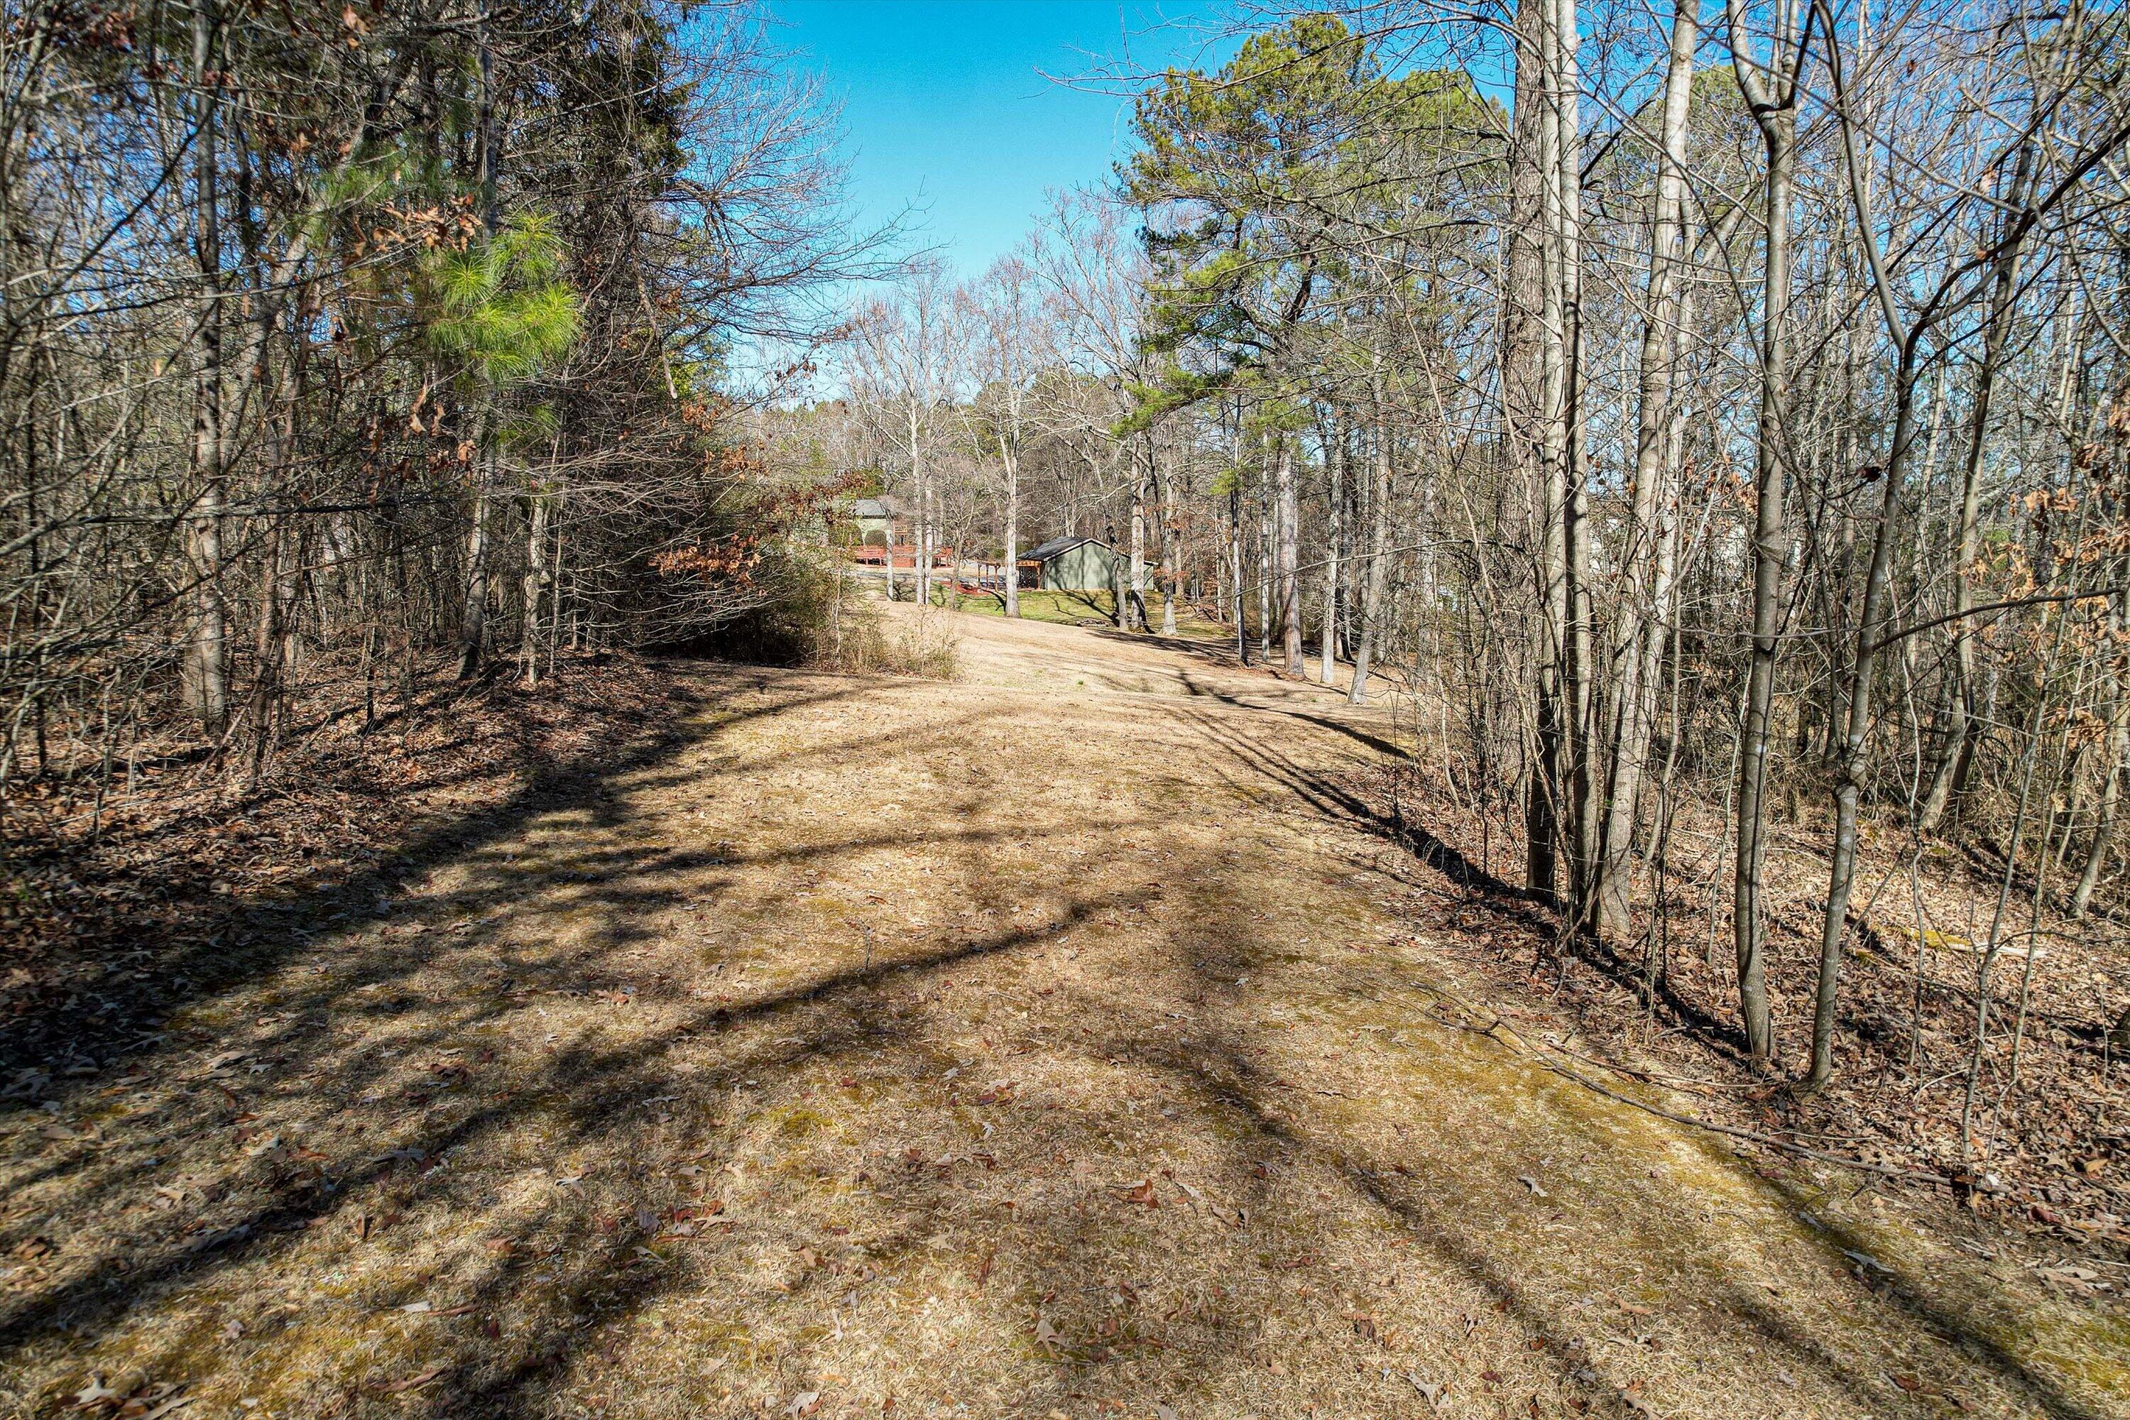
[[[1342,788],[1380,711],[952,626],[956,683],[675,668],[58,1081],[0,1414],[2130,1411],[2104,1301],[1474,1030]]]

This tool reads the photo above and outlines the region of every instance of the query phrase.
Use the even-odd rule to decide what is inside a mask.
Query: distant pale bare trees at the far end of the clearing
[[[941,547],[1012,562],[1048,536],[1093,536],[1127,554],[1112,615],[1144,628],[1152,605],[1174,632],[1174,598],[1146,590],[1210,575],[1191,560],[1210,536],[1195,492],[1218,468],[1184,422],[1137,419],[1148,279],[1129,213],[1088,192],[1059,194],[971,281],[920,260],[850,313],[848,398],[782,419],[805,451],[771,462],[839,462],[895,494],[918,549],[907,579],[890,568],[897,594],[954,594],[935,575]],[[1003,600],[1018,613],[1016,585]]]

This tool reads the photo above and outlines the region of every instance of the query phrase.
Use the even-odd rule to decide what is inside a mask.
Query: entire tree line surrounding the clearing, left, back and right
[[[2124,907],[2121,17],[1380,0],[1225,53],[1137,77],[1116,181],[990,273],[843,311],[848,400],[765,411],[741,364],[803,366],[878,243],[754,9],[21,6],[0,783],[181,724],[258,777],[439,666],[686,641],[875,468],[927,549],[1099,536],[1123,626],[1399,683],[1482,869],[1651,992],[1704,920],[1808,1079],[1851,932],[1932,930],[1859,841],[1989,864],[1987,1039],[2041,909]]]

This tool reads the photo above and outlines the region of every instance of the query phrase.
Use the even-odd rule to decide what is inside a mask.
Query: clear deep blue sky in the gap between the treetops
[[[1129,102],[1059,79],[1199,64],[1191,0],[771,0],[777,40],[843,104],[852,200],[976,275],[1052,187],[1127,151]]]

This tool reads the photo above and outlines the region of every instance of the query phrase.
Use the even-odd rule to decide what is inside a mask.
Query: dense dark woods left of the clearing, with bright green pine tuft
[[[728,360],[869,262],[829,117],[735,4],[11,9],[0,781],[777,596]]]

